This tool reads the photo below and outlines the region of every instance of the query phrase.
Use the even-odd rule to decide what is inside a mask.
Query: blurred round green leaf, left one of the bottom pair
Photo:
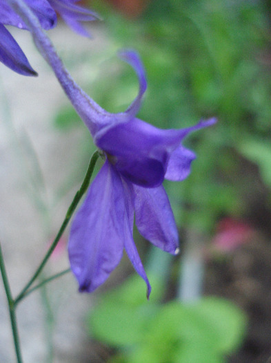
[[[112,346],[130,345],[141,340],[145,326],[159,306],[155,301],[161,298],[161,279],[151,278],[150,301],[144,292],[145,283],[133,274],[119,288],[103,294],[101,301],[90,313],[88,326],[90,334]]]

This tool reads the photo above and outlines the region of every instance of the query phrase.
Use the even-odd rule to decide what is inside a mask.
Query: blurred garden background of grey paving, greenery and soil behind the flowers
[[[83,5],[103,18],[88,24],[91,41],[64,24],[49,35],[72,76],[104,109],[123,111],[137,94],[136,75],[117,57],[117,50],[134,48],[148,77],[139,118],[167,129],[212,116],[219,122],[185,140],[197,153],[191,175],[165,183],[181,254],[152,248],[134,230],[150,301],[126,256],[92,295],[79,295],[73,277],[62,277],[19,307],[26,362],[268,362],[269,1]],[[0,70],[0,239],[19,291],[57,232],[94,146],[30,35],[16,37],[39,72],[39,79],[26,80]],[[66,236],[61,246],[45,274],[68,266]],[[13,362],[4,304],[1,291],[0,362]]]

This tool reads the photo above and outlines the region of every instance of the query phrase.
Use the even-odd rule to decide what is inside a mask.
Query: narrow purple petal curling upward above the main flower
[[[139,79],[139,93],[126,110],[126,113],[128,113],[129,117],[132,119],[137,114],[137,111],[139,111],[143,94],[147,89],[145,69],[141,59],[139,58],[139,55],[134,52],[134,50],[121,50],[119,52],[119,57],[121,57],[121,59],[129,63],[132,68],[134,68],[134,71],[136,71],[137,77]]]

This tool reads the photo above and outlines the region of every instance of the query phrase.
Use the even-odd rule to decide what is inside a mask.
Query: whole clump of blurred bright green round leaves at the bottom
[[[157,296],[142,299],[142,281],[132,276],[103,294],[88,319],[90,335],[119,348],[110,362],[225,362],[239,347],[245,315],[230,301],[205,297],[194,304],[159,303],[163,288],[152,279]]]

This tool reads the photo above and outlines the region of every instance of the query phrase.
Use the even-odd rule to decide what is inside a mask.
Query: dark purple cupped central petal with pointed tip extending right
[[[112,156],[114,167],[132,183],[158,187],[163,182],[172,152],[191,131],[210,126],[214,119],[187,129],[161,130],[137,118],[101,130],[94,141]]]

